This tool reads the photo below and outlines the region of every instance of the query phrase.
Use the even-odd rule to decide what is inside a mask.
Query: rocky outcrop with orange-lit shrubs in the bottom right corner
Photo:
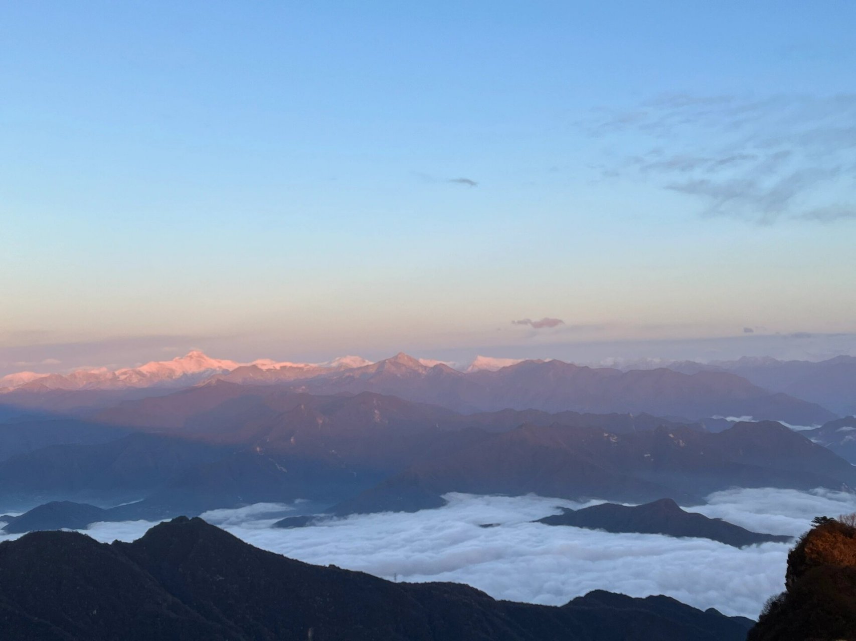
[[[826,520],[788,556],[786,590],[747,641],[856,640],[856,527]]]

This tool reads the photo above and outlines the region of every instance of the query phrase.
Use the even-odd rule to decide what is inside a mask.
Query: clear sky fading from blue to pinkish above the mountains
[[[856,353],[854,22],[0,1],[0,370]]]

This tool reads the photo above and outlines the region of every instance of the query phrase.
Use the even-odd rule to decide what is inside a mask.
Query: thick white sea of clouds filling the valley
[[[399,581],[456,581],[492,597],[558,605],[603,589],[633,597],[665,594],[727,615],[752,618],[783,589],[788,544],[737,549],[703,538],[615,534],[532,520],[599,503],[537,496],[447,495],[441,509],[353,515],[316,526],[272,527],[294,506],[259,503],[206,512],[205,520],[265,550]],[[856,511],[845,492],[735,489],[693,511],[755,532],[799,536],[817,515]],[[130,541],[152,522],[96,523],[99,541]],[[481,527],[491,525],[491,527]],[[13,536],[0,536],[15,538]]]

